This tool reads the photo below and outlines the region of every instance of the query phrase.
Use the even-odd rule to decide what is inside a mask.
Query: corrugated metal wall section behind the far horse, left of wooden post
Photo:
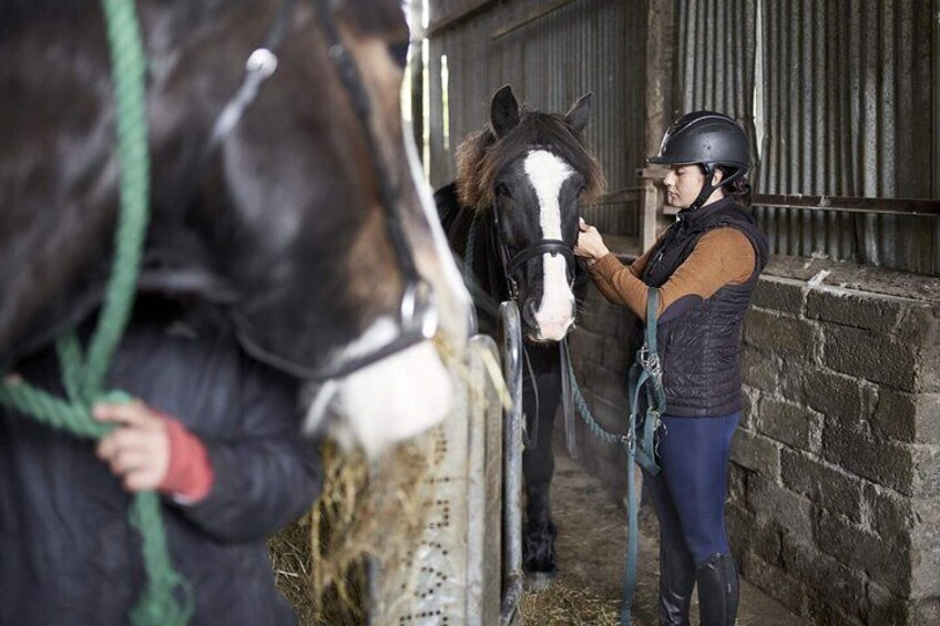
[[[472,3],[430,3],[430,23]],[[460,140],[488,120],[490,99],[511,83],[531,109],[563,112],[594,92],[586,140],[601,161],[610,191],[634,187],[643,165],[645,1],[576,0],[504,34],[549,4],[510,0],[432,35],[428,60],[430,175],[433,186],[453,176]],[[447,93],[441,58],[447,58]],[[448,120],[445,123],[443,115]],[[445,132],[448,132],[445,136]],[[604,205],[591,216],[604,229],[637,232],[638,211]]]

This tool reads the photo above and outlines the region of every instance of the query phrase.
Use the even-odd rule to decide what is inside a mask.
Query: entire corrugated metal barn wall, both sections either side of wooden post
[[[431,0],[431,24],[479,4]],[[497,37],[546,6],[560,8]],[[505,0],[433,35],[432,184],[451,178],[460,138],[512,83],[530,106],[550,111],[594,91],[589,143],[610,191],[634,187],[645,156],[646,19],[645,0]],[[663,44],[675,47],[675,113],[716,109],[738,120],[759,157],[756,192],[940,197],[940,0],[675,0],[674,32]],[[591,211],[607,233],[638,230],[635,204]],[[757,215],[778,254],[940,274],[936,216]]]

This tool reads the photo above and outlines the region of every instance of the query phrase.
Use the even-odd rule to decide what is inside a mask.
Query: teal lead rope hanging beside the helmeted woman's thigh
[[[636,488],[634,478],[636,468],[640,465],[653,475],[660,473],[660,465],[655,458],[655,435],[660,428],[660,417],[666,410],[666,394],[663,389],[663,371],[660,363],[660,355],[656,349],[656,314],[660,309],[660,290],[650,287],[646,297],[646,331],[643,346],[636,351],[636,358],[630,369],[627,377],[627,391],[630,397],[630,419],[625,435],[609,432],[594,419],[578,381],[574,378],[574,369],[569,360],[569,376],[578,412],[581,413],[588,430],[602,441],[611,444],[621,443],[626,450],[626,510],[627,510],[627,536],[626,536],[626,563],[623,579],[623,603],[621,605],[621,626],[630,626],[631,604],[636,591],[636,558],[638,551],[638,510],[636,503]],[[642,432],[637,433],[637,421],[640,419],[640,393],[646,391],[646,414],[642,422]],[[638,435],[638,437],[637,437]]]

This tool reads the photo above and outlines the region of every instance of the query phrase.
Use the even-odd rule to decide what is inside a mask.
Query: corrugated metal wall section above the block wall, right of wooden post
[[[680,111],[740,121],[766,194],[936,197],[936,0],[678,0]],[[938,217],[758,208],[778,254],[938,267]]]

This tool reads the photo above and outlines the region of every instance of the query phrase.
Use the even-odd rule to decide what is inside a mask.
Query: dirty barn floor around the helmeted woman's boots
[[[559,530],[556,582],[584,589],[611,607],[604,623],[620,606],[626,555],[626,513],[594,476],[563,451],[555,454],[552,482],[554,519]],[[638,588],[633,603],[634,624],[657,624],[658,544],[655,516],[641,517]],[[697,599],[693,598],[692,624],[698,624]],[[595,618],[596,619],[596,618]],[[529,616],[527,624],[561,624],[564,619]],[[571,618],[569,623],[589,623]],[[797,626],[807,624],[760,589],[742,581],[738,624],[746,626]]]

